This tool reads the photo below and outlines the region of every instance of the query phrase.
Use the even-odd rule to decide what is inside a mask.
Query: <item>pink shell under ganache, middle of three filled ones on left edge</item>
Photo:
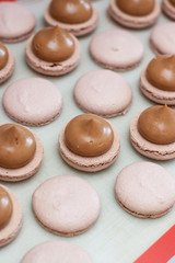
[[[33,133],[30,129],[31,133]],[[40,168],[43,157],[44,157],[44,149],[40,139],[37,135],[33,133],[35,140],[36,140],[36,152],[34,158],[30,163],[22,168],[18,169],[7,169],[0,167],[0,180],[5,182],[19,182],[26,180],[34,175]]]

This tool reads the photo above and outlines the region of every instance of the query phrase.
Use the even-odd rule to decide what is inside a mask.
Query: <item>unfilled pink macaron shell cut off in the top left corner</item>
[[[35,28],[35,16],[22,3],[0,2],[0,39],[20,42]]]

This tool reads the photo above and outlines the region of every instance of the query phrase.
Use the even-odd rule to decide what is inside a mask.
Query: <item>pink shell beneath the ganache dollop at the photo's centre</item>
[[[81,157],[70,151],[65,144],[65,128],[59,135],[59,152],[62,159],[74,169],[85,172],[97,172],[112,165],[117,159],[120,151],[119,135],[115,127],[110,125],[114,132],[114,142],[112,148],[98,157]]]

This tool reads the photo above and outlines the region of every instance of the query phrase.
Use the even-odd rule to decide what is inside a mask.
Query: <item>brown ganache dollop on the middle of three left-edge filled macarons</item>
[[[0,167],[15,169],[26,165],[34,157],[34,135],[20,125],[0,126]]]

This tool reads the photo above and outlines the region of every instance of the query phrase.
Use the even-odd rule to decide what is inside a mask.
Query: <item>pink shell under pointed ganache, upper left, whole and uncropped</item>
[[[74,41],[74,53],[70,58],[60,62],[47,62],[36,57],[32,49],[31,36],[25,46],[25,59],[28,66],[35,71],[46,76],[62,76],[78,67],[80,60],[80,44],[78,39],[71,35]]]

